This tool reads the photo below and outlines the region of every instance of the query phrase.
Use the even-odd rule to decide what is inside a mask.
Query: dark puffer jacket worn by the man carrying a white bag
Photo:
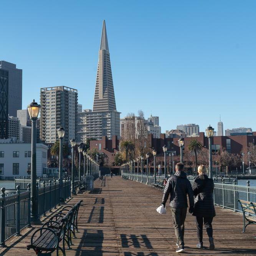
[[[166,203],[169,194],[170,206],[172,208],[188,207],[187,194],[190,206],[193,207],[194,205],[193,190],[186,173],[183,171],[175,172],[174,175],[168,179],[164,188],[162,203]]]

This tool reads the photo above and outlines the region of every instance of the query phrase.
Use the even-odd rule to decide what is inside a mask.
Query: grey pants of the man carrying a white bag
[[[184,222],[187,215],[186,208],[171,208],[173,226],[178,245],[184,245]]]

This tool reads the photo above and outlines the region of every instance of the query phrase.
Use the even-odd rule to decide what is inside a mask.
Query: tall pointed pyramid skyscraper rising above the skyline
[[[92,111],[116,111],[116,100],[105,20],[103,20],[102,25],[101,46],[99,48],[99,60]]]

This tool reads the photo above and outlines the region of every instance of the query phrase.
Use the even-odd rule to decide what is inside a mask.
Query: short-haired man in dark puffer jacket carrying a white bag
[[[170,206],[172,211],[173,225],[175,235],[177,237],[177,253],[181,253],[184,250],[184,222],[187,215],[187,195],[189,198],[189,212],[193,213],[194,197],[193,190],[190,181],[187,179],[186,173],[183,171],[184,164],[178,163],[175,166],[176,172],[172,175],[164,188],[164,195],[162,199],[162,205],[165,203],[170,194]]]

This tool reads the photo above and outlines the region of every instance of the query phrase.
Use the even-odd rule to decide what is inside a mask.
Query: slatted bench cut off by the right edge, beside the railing
[[[249,224],[256,224],[256,203],[252,203],[249,201],[244,201],[244,200],[238,200],[242,211],[243,211],[243,216],[244,216],[244,228],[243,228],[243,233],[245,232],[246,227]],[[246,221],[248,221],[247,224]]]

